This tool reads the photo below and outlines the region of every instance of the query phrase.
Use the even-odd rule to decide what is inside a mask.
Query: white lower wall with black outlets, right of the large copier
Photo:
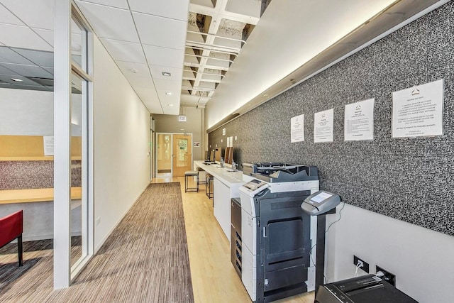
[[[338,212],[328,215],[327,226],[336,219]],[[326,253],[328,282],[353,277],[357,255],[370,273],[375,265],[394,273],[397,288],[420,303],[454,302],[453,236],[345,204],[326,234]]]

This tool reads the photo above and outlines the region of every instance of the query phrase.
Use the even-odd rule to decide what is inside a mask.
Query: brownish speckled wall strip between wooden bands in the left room
[[[80,160],[71,163],[72,187],[82,184]],[[0,190],[54,186],[53,161],[0,161]]]

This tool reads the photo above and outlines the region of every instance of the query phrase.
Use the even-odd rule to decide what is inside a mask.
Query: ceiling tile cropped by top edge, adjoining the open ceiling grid
[[[189,0],[129,0],[131,11],[187,21]]]

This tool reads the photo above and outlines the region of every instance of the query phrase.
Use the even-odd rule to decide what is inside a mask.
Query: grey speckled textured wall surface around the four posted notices
[[[454,1],[209,133],[234,160],[319,167],[348,204],[454,236]],[[392,138],[392,92],[445,81],[443,136]],[[374,141],[344,142],[345,104],[375,98]],[[314,113],[334,108],[333,143],[314,143]],[[305,141],[290,143],[304,114]],[[226,136],[222,136],[226,128]],[[221,143],[223,139],[223,143]]]

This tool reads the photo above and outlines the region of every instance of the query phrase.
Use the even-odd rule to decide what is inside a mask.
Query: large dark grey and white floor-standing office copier
[[[231,233],[232,263],[250,298],[271,302],[314,290],[311,228],[316,219],[301,209],[301,202],[319,190],[317,168],[254,163],[243,164],[243,172],[249,182],[240,187],[241,221]],[[232,211],[238,216],[238,209]],[[235,232],[238,225],[240,233]]]

